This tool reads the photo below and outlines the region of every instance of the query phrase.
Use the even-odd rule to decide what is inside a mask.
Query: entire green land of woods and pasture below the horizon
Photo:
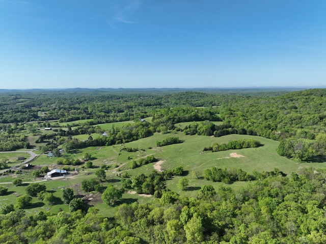
[[[326,243],[325,108],[326,89],[2,91],[0,242]],[[34,168],[7,157],[26,150]]]

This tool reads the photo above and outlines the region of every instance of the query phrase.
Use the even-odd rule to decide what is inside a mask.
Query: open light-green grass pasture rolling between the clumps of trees
[[[121,123],[122,124],[122,123]],[[183,125],[183,123],[182,123]],[[108,127],[107,127],[108,128]],[[156,147],[156,141],[161,141],[169,136],[178,137],[183,143],[174,144],[164,147]],[[253,138],[260,141],[263,146],[258,148],[247,148],[240,150],[228,150],[221,152],[203,152],[203,148],[210,146],[214,142],[228,142],[231,140],[237,140],[241,138]],[[199,172],[203,172],[205,169],[212,167],[218,168],[241,168],[244,171],[252,173],[253,170],[261,171],[272,171],[274,168],[278,168],[286,174],[295,172],[300,168],[314,167],[314,168],[325,168],[326,162],[303,162],[298,164],[297,162],[281,157],[276,153],[279,142],[270,139],[265,139],[262,137],[255,137],[250,135],[226,135],[220,138],[207,137],[203,135],[185,135],[183,132],[178,133],[154,133],[149,138],[144,138],[138,141],[129,142],[124,145],[113,145],[113,146],[103,146],[103,147],[89,147],[81,149],[76,153],[65,153],[64,155],[71,158],[82,159],[85,153],[89,153],[92,156],[92,162],[94,169],[83,169],[83,165],[78,166],[79,174],[73,177],[67,177],[62,180],[49,180],[45,181],[44,184],[47,186],[47,190],[53,192],[57,197],[58,201],[55,205],[48,206],[42,203],[37,198],[33,198],[33,205],[27,209],[28,214],[34,214],[39,210],[45,210],[50,212],[58,212],[59,209],[68,210],[68,206],[64,205],[60,198],[62,196],[62,191],[64,187],[72,187],[75,194],[84,196],[91,206],[95,206],[104,212],[106,216],[113,216],[116,207],[108,207],[101,201],[101,195],[99,193],[84,193],[80,191],[80,182],[83,179],[95,178],[95,171],[101,165],[108,165],[110,168],[106,171],[107,182],[104,185],[114,184],[117,187],[121,187],[120,178],[117,176],[119,172],[128,172],[130,175],[137,175],[140,173],[149,174],[154,170],[155,162],[141,166],[139,168],[130,169],[131,161],[137,160],[141,157],[146,157],[148,155],[154,155],[158,160],[162,161],[162,169],[174,169],[177,166],[182,166],[186,177],[189,180],[189,188],[191,191],[180,191],[177,187],[178,180],[180,177],[174,177],[167,181],[166,186],[173,191],[177,192],[181,196],[191,196],[196,197],[198,191],[203,185],[213,185],[215,189],[218,189],[220,185],[224,184],[221,182],[211,182],[204,179],[197,179],[193,174],[194,169],[198,169]],[[137,152],[126,152],[121,151],[122,147],[140,148],[145,151]],[[242,157],[230,157],[230,153],[237,153],[242,155]],[[29,157],[26,153],[13,153],[13,154],[0,154],[3,158],[16,159],[18,156]],[[128,159],[129,158],[129,159]],[[0,158],[1,159],[1,158]],[[35,167],[49,166],[49,168],[62,168],[63,166],[56,165],[56,157],[49,158],[46,155],[39,156],[33,165]],[[118,168],[117,168],[118,167]],[[24,175],[11,175],[11,176],[1,176],[0,182],[11,182],[16,177],[23,177],[23,181],[35,181],[31,173],[25,173]],[[243,185],[250,184],[250,182],[234,182],[229,186],[233,189],[237,189]],[[0,197],[0,205],[4,203],[15,204],[15,199],[18,195],[24,194],[25,186],[14,186],[12,184],[4,185],[9,187],[9,192],[6,196]],[[131,203],[134,201],[139,201],[141,203],[146,203],[150,201],[151,198],[143,197],[139,195],[131,195],[127,192],[123,194],[120,203],[126,202]]]

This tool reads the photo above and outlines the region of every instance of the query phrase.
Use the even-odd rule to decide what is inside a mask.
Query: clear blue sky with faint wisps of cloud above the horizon
[[[0,89],[326,86],[325,0],[0,0]]]

